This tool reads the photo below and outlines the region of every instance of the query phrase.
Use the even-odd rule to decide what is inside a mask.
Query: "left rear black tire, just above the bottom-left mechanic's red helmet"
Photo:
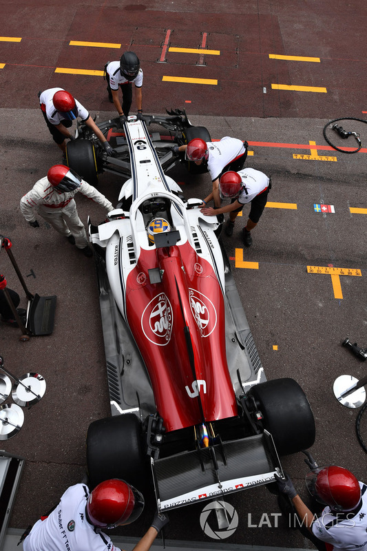
[[[110,478],[120,478],[142,491],[147,468],[141,426],[134,413],[98,419],[87,432],[87,470],[90,488]]]

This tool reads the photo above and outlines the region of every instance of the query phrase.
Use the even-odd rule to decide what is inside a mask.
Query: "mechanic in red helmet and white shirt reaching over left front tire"
[[[49,88],[39,92],[39,104],[48,129],[52,134],[52,139],[63,153],[66,152],[65,139],[74,139],[68,128],[72,126],[74,119],[80,117],[83,123],[96,134],[107,155],[113,154],[114,150],[107,142],[103,132],[94,123],[85,107],[70,92],[63,90],[63,88]]]

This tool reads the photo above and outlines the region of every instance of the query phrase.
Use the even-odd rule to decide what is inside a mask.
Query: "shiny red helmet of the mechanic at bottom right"
[[[308,472],[306,486],[317,501],[335,511],[352,511],[361,499],[356,477],[349,470],[335,465]]]

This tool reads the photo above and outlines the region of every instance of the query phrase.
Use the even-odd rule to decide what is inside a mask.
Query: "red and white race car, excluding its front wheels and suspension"
[[[150,479],[169,510],[270,484],[314,442],[306,395],[266,381],[217,218],[183,199],[143,121],[124,132],[132,178],[89,222],[112,409],[88,429],[90,485]]]

